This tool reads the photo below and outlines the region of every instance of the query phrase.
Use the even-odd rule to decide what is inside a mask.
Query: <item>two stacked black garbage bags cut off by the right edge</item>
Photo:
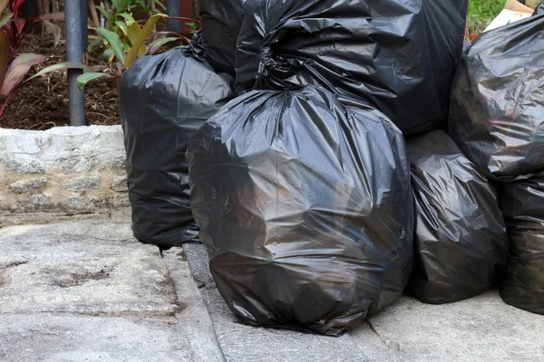
[[[544,314],[544,3],[471,45],[453,84],[449,125],[502,189],[510,257],[500,296]]]

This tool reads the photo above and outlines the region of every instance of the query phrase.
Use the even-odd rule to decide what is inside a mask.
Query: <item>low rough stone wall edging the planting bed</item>
[[[121,126],[0,129],[0,213],[129,206]]]

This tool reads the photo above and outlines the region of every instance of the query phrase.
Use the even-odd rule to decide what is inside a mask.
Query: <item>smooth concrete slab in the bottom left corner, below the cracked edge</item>
[[[192,362],[178,319],[0,315],[5,362]]]

